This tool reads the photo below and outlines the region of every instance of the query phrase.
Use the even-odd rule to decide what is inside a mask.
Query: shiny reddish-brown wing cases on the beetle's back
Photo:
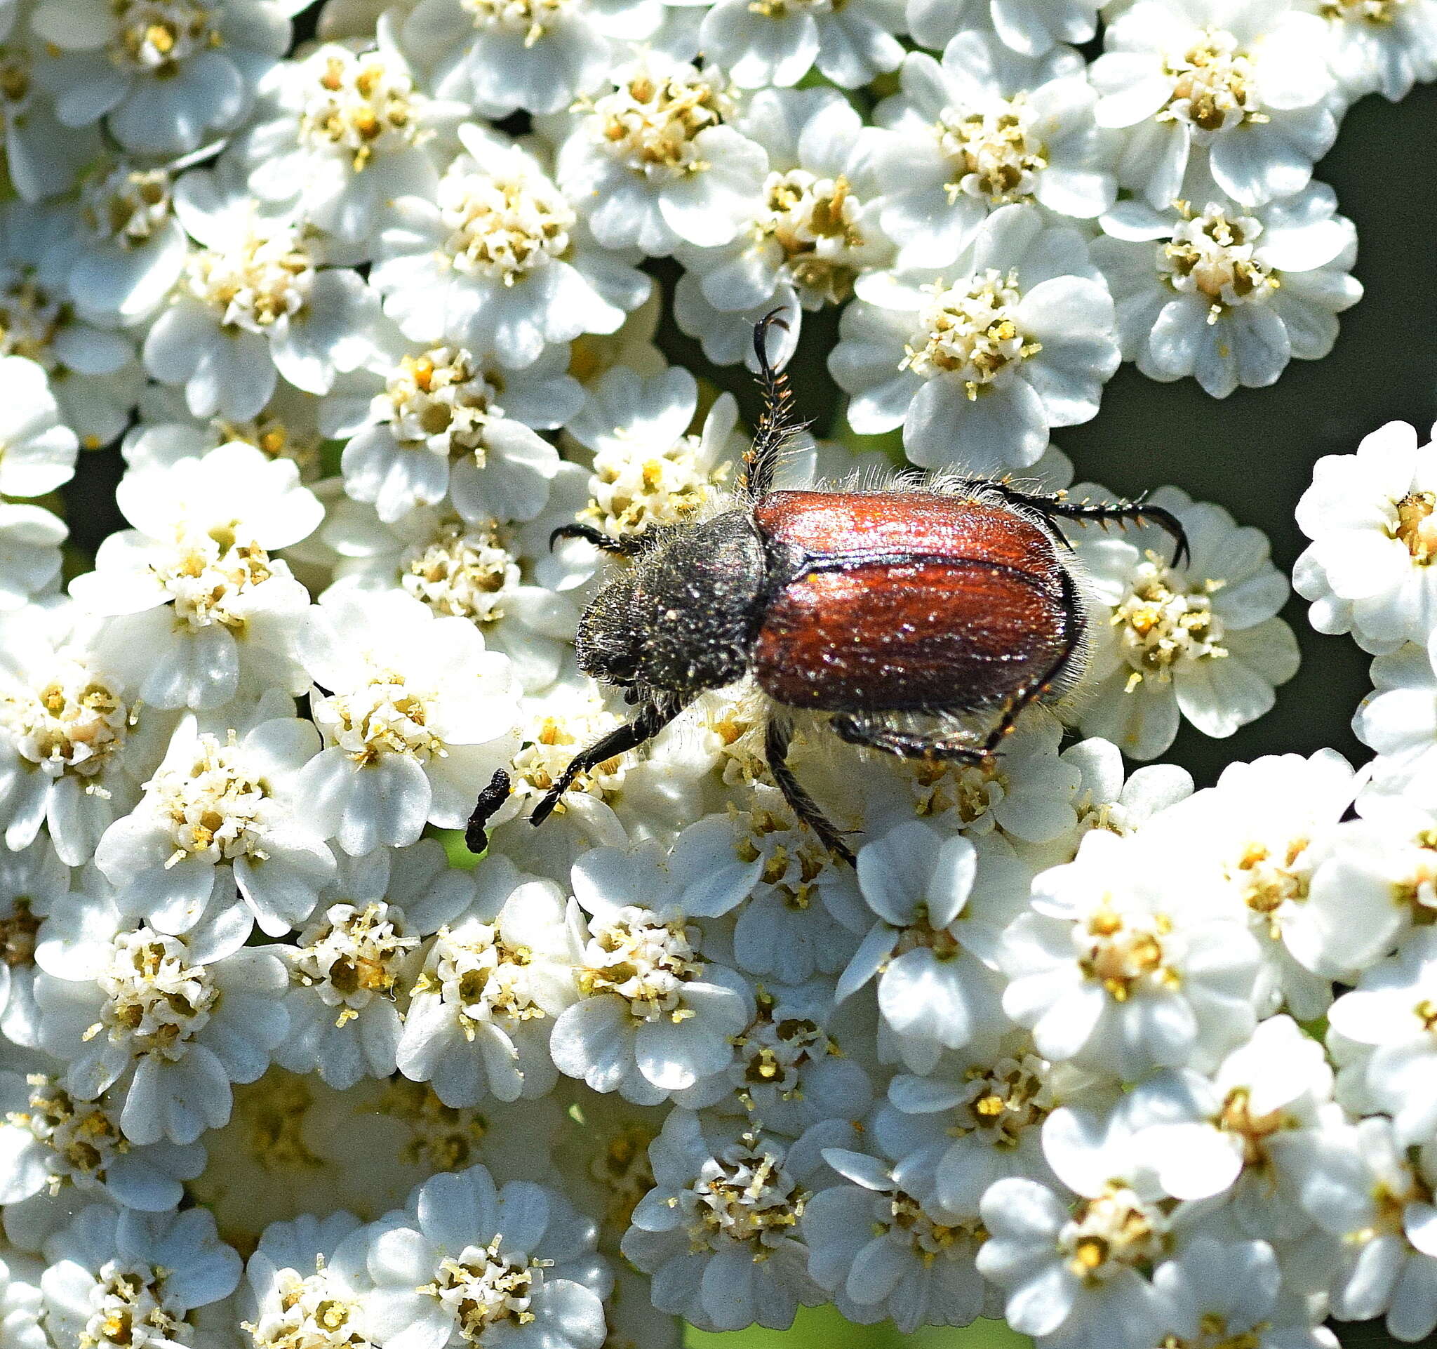
[[[1058,663],[1076,616],[1052,538],[934,492],[772,492],[753,676],[822,712],[996,706]]]

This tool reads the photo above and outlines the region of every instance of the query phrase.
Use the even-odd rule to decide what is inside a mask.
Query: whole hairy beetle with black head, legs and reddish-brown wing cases
[[[813,713],[854,745],[904,758],[987,764],[1019,715],[1056,702],[1086,662],[1086,607],[1059,521],[1151,522],[1187,536],[1142,502],[1071,502],[1007,479],[938,477],[868,490],[777,490],[795,434],[787,377],[769,362],[773,311],[754,325],[763,416],[731,500],[706,519],[588,539],[629,567],[579,620],[579,669],[615,685],[637,712],[583,749],[535,808],[542,824],[581,774],[651,739],[698,695],[752,676],[766,695],[764,756],[795,815],[838,859],[854,853],[789,767],[793,719]],[[974,729],[974,716],[990,721]],[[466,834],[509,794],[500,769]]]

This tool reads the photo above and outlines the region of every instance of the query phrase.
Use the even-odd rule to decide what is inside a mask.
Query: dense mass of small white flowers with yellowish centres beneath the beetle
[[[842,308],[854,436],[792,483],[901,427],[920,469],[1104,498],[1049,437],[1122,360],[1224,397],[1329,351],[1357,239],[1312,164],[1437,79],[1437,0],[302,9],[0,6],[0,1342],[670,1349],[821,1303],[1040,1349],[1433,1332],[1410,427],[1298,508],[1313,624],[1375,656],[1359,771],[1125,769],[1298,667],[1262,534],[1163,488],[1180,559],[1071,531],[1081,739],[795,742],[856,869],[746,689],[527,815],[624,716],[573,659],[598,552],[552,536],[739,472],[661,318],[731,365]],[[128,526],[62,554],[116,442]]]

